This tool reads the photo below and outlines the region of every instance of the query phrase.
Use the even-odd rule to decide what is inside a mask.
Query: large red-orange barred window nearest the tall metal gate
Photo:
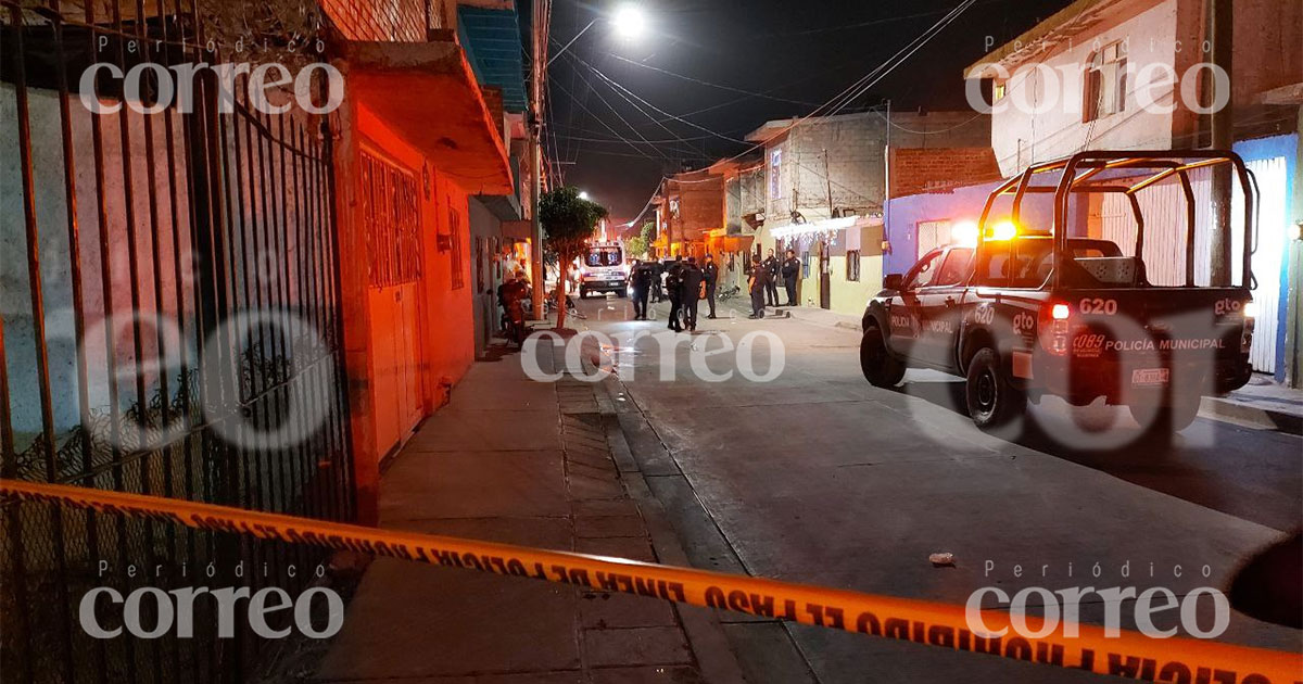
[[[421,278],[421,208],[416,175],[362,151],[362,229],[373,288]]]

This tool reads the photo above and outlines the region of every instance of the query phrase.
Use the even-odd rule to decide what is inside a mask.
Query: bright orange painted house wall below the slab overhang
[[[409,429],[447,403],[448,392],[474,360],[466,193],[425,155],[371,113],[351,102],[336,154],[339,228],[344,285],[344,343],[353,412],[354,476],[362,522],[375,522],[380,460],[409,436]],[[373,288],[360,202],[360,156],[365,150],[412,171],[421,202],[421,279],[396,288]],[[460,228],[453,229],[455,216]],[[439,236],[446,249],[440,250]],[[453,254],[460,246],[461,287],[453,288]],[[414,326],[397,323],[410,311]],[[405,365],[414,363],[414,382]],[[414,387],[414,406],[404,400]],[[407,416],[412,410],[412,416]],[[399,413],[396,416],[395,413]],[[408,420],[410,417],[410,420]]]

